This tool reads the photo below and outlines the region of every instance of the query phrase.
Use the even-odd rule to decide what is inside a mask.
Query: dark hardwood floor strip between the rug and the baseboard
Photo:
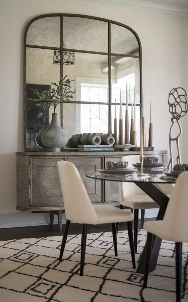
[[[148,220],[154,220],[155,218],[148,218]],[[22,238],[38,238],[48,236],[60,236],[63,235],[65,224],[62,224],[62,231],[58,231],[58,224],[44,225],[44,226],[24,226],[16,228],[0,229],[0,240],[22,239]],[[139,219],[138,228],[143,228],[143,223]],[[120,223],[119,230],[127,230],[126,223]],[[88,225],[88,233],[101,233],[111,232],[111,224],[100,225]],[[79,223],[71,223],[69,228],[69,235],[81,234],[82,225]]]

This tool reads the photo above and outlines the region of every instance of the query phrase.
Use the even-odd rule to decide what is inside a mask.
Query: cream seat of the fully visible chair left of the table
[[[101,204],[94,204],[93,207],[98,217],[97,224],[133,220],[133,214],[131,212],[121,210],[117,207]]]

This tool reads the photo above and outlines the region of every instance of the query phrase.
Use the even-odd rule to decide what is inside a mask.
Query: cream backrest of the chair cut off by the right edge
[[[175,242],[188,242],[188,171],[176,181],[163,219],[163,230]]]

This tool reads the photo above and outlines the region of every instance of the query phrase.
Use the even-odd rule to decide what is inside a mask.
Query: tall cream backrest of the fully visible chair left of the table
[[[97,214],[78,170],[72,162],[57,162],[66,219],[77,223],[97,223]]]

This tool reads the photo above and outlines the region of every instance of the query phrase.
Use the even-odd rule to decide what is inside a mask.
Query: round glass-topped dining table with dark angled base
[[[158,184],[173,184],[176,182],[176,178],[166,177],[162,171],[144,171],[148,174],[148,177],[143,178],[138,176],[136,173],[132,175],[122,175],[122,174],[104,174],[98,171],[93,171],[86,173],[85,176],[93,179],[101,179],[105,181],[115,181],[115,182],[134,182],[141,190],[143,190],[150,198],[152,198],[159,205],[159,212],[156,220],[163,220],[165,211],[168,205],[169,197],[168,195],[159,187]],[[149,262],[149,272],[156,268],[157,259],[159,256],[159,251],[161,247],[162,239],[154,236],[152,243],[152,252]],[[146,258],[146,246],[140,256],[137,272],[144,274],[145,269],[145,259]]]

